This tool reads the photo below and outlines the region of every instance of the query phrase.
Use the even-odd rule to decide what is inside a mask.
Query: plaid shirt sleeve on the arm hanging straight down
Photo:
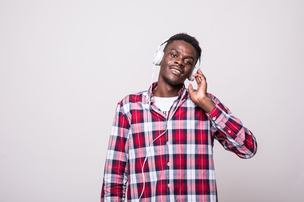
[[[101,202],[123,202],[127,188],[128,171],[128,134],[130,124],[119,104],[114,117],[110,135],[103,183]]]

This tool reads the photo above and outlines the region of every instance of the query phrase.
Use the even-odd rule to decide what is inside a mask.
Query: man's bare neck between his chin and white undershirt
[[[183,85],[172,86],[163,81],[157,82],[157,89],[153,90],[153,95],[156,97],[176,97]]]

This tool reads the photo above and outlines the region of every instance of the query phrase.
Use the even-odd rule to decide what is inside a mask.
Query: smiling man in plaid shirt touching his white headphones
[[[124,201],[128,182],[129,202],[217,202],[214,139],[241,158],[256,153],[253,134],[207,93],[201,70],[197,91],[185,88],[201,51],[192,36],[170,37],[158,81],[118,103],[101,201]]]

